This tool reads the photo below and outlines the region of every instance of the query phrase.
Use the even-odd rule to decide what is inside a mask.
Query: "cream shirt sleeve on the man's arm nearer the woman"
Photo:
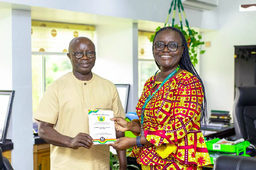
[[[113,105],[112,105],[112,111],[114,112],[115,117],[122,117],[125,119],[125,111],[122,107],[122,103],[118,94],[118,91],[116,89],[116,86],[113,85]]]

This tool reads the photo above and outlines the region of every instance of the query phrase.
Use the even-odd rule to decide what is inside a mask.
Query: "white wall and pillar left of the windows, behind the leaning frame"
[[[33,169],[31,12],[0,9],[0,89],[15,90],[8,138],[14,169]]]

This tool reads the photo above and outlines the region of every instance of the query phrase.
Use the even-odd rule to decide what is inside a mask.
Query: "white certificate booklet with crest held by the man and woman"
[[[89,132],[94,144],[108,144],[116,141],[115,124],[110,118],[113,111],[89,110]]]

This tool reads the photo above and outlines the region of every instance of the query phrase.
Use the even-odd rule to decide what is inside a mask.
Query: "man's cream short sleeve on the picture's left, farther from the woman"
[[[44,92],[44,96],[41,99],[38,110],[33,114],[33,118],[43,122],[56,124],[58,112],[58,85],[55,82]]]

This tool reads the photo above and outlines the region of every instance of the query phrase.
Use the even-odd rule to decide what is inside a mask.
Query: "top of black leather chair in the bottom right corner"
[[[256,170],[256,158],[221,155],[215,160],[213,170]]]

